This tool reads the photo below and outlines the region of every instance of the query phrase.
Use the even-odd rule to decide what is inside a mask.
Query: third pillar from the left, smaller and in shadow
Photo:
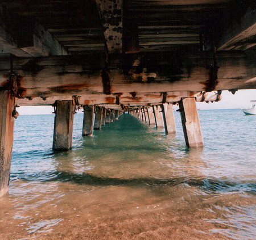
[[[82,122],[82,136],[92,136],[94,125],[94,106],[84,106],[84,121]]]

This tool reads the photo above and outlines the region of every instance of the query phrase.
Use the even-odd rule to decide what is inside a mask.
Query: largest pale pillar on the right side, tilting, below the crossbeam
[[[180,103],[181,123],[185,142],[188,147],[204,146],[195,98],[181,98]]]

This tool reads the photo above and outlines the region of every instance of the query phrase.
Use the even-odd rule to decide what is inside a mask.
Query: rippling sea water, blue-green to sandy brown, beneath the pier
[[[131,115],[53,153],[53,115],[19,116],[0,239],[256,239],[256,117],[199,111],[188,150]]]

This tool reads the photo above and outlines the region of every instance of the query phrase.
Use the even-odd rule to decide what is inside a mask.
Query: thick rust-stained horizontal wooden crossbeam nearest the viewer
[[[250,55],[249,52],[233,54],[219,52],[217,54],[219,69],[213,89],[255,89],[256,82],[250,81],[255,78],[254,57],[255,53]],[[129,103],[131,99],[139,100],[137,93],[198,92],[212,85],[210,82],[212,58],[201,58],[199,54],[199,56],[185,56],[184,59],[179,59],[179,62],[174,62],[175,59],[165,53],[145,54],[138,66],[132,66],[132,70],[128,72],[125,70],[124,73],[118,69],[119,64],[114,65],[115,60],[113,63],[110,61],[110,66],[113,64],[110,69],[110,93],[121,94],[121,98],[123,94],[123,100]],[[145,66],[147,68],[144,68]],[[101,73],[103,68],[102,54],[13,60],[13,71],[18,81],[16,87],[20,96],[24,98],[104,94]],[[10,87],[9,73],[10,58],[0,58],[0,86],[5,89]],[[113,96],[109,95],[105,98],[115,103]],[[157,98],[159,99],[159,96]]]

